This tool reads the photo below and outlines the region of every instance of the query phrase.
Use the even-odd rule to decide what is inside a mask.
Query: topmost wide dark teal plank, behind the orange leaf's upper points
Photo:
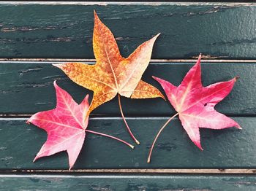
[[[256,55],[255,4],[45,4],[0,4],[1,58],[94,58],[94,9],[124,56],[159,32],[152,58]]]

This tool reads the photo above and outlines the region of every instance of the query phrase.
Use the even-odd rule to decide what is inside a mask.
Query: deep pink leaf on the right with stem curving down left
[[[214,106],[230,93],[237,77],[227,82],[218,82],[203,87],[200,59],[201,55],[199,55],[197,63],[187,72],[181,85],[178,87],[164,79],[153,77],[162,85],[170,104],[172,104],[177,113],[170,117],[157,133],[148,155],[148,163],[150,163],[151,152],[159,134],[170,120],[177,115],[189,138],[201,150],[203,148],[200,144],[199,128],[223,129],[236,127],[241,129],[237,122],[214,109]]]

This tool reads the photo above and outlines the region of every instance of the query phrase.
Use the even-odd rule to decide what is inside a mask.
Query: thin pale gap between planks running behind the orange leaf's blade
[[[195,59],[151,59],[151,63],[195,63]],[[0,58],[0,63],[7,62],[89,62],[95,63],[95,59],[75,59],[75,58]],[[256,60],[245,59],[202,59],[201,62],[205,63],[256,63]]]

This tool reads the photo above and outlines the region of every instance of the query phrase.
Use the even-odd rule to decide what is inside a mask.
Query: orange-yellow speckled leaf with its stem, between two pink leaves
[[[59,67],[78,85],[94,91],[87,115],[97,106],[110,101],[118,94],[118,103],[124,119],[120,95],[127,98],[164,98],[156,87],[140,80],[150,61],[157,36],[141,44],[128,58],[123,58],[110,29],[99,20],[94,11],[93,48],[97,63],[95,65],[61,63],[53,64],[53,66]],[[132,139],[139,144],[125,119],[124,122]]]

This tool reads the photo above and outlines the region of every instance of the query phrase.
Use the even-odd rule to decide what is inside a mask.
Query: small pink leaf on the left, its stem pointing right
[[[56,84],[56,81],[54,82],[54,87],[56,89],[57,99],[56,108],[49,111],[38,112],[32,115],[27,121],[27,123],[37,125],[48,133],[48,139],[34,158],[34,161],[39,157],[50,156],[57,152],[67,150],[69,169],[72,168],[83,146],[86,132],[108,136],[133,148],[131,144],[114,136],[86,129],[89,117],[87,116],[85,120],[84,113],[89,109],[89,95],[86,95],[86,98],[78,105],[69,93],[62,90],[61,87]]]

